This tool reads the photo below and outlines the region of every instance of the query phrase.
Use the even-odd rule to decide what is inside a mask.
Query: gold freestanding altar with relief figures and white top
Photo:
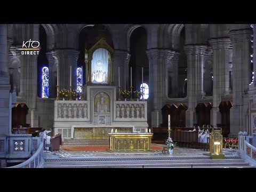
[[[109,133],[110,151],[149,151],[153,133]]]

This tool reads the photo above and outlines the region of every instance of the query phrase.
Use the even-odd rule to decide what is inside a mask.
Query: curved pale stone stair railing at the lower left
[[[39,141],[38,143],[34,143],[33,141],[33,146],[35,147],[37,144],[39,144],[36,152],[34,153],[33,156],[31,156],[27,161],[19,164],[19,165],[14,165],[11,167],[7,168],[42,168],[44,167],[44,132],[39,133],[39,138],[38,140],[35,139],[35,141]],[[35,150],[35,148],[31,150]]]

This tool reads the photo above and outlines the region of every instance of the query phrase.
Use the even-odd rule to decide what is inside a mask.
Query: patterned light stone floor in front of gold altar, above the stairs
[[[161,146],[161,145],[159,145]],[[162,145],[164,146],[164,145]],[[209,151],[204,151],[201,149],[191,149],[191,148],[179,148],[178,146],[174,148],[173,154],[162,153],[162,150],[152,150],[150,152],[111,152],[111,151],[67,151],[67,150],[59,150],[54,151],[56,155],[59,155],[60,158],[85,158],[85,157],[111,157],[111,156],[204,156],[203,154],[209,154]]]

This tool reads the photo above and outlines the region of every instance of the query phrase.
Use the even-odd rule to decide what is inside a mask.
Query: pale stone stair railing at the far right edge
[[[254,137],[255,136],[238,135],[239,154],[252,166],[256,166],[256,147],[252,146],[250,143]]]

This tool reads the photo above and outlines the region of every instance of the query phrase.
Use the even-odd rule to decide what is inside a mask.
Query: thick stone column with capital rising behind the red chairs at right
[[[251,29],[229,31],[233,44],[233,107],[230,109],[230,135],[247,131],[246,117],[251,83]],[[242,64],[243,63],[243,64]]]

